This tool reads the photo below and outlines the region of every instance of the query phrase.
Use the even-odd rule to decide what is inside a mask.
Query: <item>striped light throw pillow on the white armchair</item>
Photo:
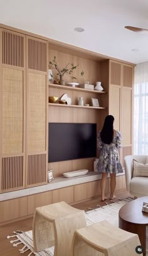
[[[142,164],[133,159],[133,177],[144,176],[148,177],[148,164]]]

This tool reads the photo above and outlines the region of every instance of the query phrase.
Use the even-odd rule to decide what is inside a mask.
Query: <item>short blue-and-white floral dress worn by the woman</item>
[[[97,148],[100,150],[100,158],[98,159],[97,170],[98,172],[107,172],[110,174],[118,174],[123,172],[119,160],[119,152],[117,148],[121,147],[121,134],[116,131],[112,143],[110,145],[102,142],[100,138],[100,131],[97,136]]]

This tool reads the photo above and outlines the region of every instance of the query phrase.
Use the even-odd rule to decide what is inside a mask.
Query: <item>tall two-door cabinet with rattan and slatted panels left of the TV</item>
[[[46,44],[0,30],[0,192],[47,180]]]

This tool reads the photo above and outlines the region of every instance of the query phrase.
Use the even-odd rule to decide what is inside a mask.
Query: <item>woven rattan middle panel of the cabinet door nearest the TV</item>
[[[46,151],[46,75],[29,73],[28,152]]]

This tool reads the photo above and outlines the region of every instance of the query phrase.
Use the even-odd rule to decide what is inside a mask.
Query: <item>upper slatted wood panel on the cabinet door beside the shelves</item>
[[[46,72],[46,43],[28,38],[28,68]]]

